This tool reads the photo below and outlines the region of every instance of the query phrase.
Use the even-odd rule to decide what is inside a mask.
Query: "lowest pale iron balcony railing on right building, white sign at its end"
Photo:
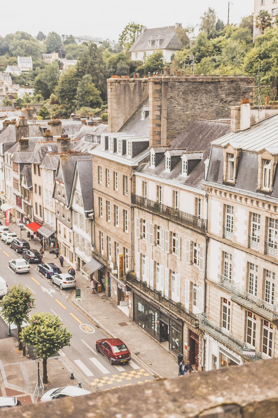
[[[212,335],[216,339],[218,339],[220,342],[228,346],[230,349],[234,350],[235,352],[238,352],[238,354],[243,355],[243,349],[244,348],[252,348],[248,343],[245,343],[238,339],[237,337],[230,334],[228,331],[224,331],[220,326],[215,325],[213,322],[209,321],[205,315],[200,315],[200,328],[202,328],[204,331],[208,332],[208,334]],[[263,360],[268,359],[268,357],[260,353],[259,351],[255,350],[255,357],[249,357],[252,361],[257,360]]]

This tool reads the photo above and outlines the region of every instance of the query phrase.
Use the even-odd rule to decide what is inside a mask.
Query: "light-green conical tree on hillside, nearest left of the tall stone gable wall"
[[[103,104],[100,91],[95,87],[93,79],[89,74],[83,76],[78,83],[75,103],[78,109],[83,106],[100,107]]]

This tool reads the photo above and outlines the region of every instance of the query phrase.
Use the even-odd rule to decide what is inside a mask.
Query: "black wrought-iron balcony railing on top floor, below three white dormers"
[[[150,199],[145,199],[142,196],[136,194],[131,195],[131,203],[142,208],[148,209],[150,212],[161,214],[169,219],[178,221],[181,224],[188,225],[205,232],[207,229],[206,219],[198,218],[197,216],[190,215],[189,213],[180,211],[178,209],[170,208],[169,206],[155,202]]]

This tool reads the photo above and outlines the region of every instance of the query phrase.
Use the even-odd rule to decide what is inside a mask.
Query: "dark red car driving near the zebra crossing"
[[[108,358],[110,364],[128,363],[131,354],[128,347],[118,338],[107,338],[98,340],[95,349]]]

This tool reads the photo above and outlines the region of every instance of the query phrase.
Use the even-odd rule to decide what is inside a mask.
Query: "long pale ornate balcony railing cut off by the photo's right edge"
[[[231,298],[246,308],[250,308],[265,318],[273,321],[278,319],[278,305],[272,305],[251,293],[240,289],[238,285],[232,285]]]

